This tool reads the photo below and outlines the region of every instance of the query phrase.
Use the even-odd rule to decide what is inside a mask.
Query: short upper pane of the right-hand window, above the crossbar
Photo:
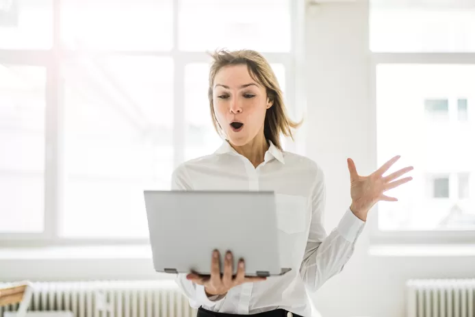
[[[370,47],[386,52],[473,52],[475,3],[371,0]]]

